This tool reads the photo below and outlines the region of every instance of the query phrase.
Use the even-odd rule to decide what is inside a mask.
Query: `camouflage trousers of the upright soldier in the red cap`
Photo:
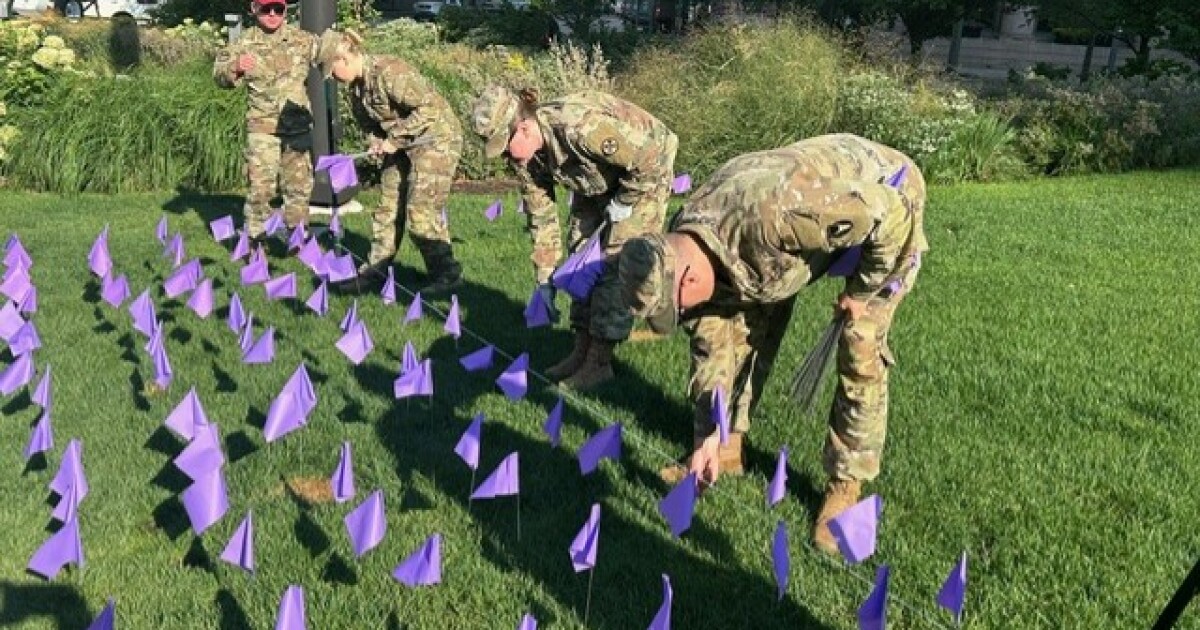
[[[308,199],[312,197],[312,136],[275,136],[248,133],[246,137],[246,232],[250,236],[263,233],[271,214],[271,198],[276,184],[283,193],[283,217],[288,227],[308,221]]]

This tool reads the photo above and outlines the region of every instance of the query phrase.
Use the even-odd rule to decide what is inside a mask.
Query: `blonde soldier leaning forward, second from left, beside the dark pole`
[[[354,118],[372,136],[371,152],[383,158],[383,197],[360,274],[386,275],[403,236],[396,226],[402,220],[430,275],[425,290],[458,286],[462,265],[442,221],[462,156],[462,126],[450,103],[408,62],[366,54],[361,37],[352,31],[326,31],[317,56],[326,74],[349,84]]]

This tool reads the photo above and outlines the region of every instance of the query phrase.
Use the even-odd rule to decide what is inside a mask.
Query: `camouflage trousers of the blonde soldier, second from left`
[[[442,209],[462,156],[462,139],[438,142],[410,151],[396,151],[383,161],[379,187],[383,196],[371,223],[370,264],[396,257],[407,229],[421,252],[426,268],[449,256],[450,228]],[[403,224],[397,224],[403,221]]]

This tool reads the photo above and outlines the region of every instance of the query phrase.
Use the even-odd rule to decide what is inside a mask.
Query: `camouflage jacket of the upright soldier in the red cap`
[[[312,130],[305,79],[317,54],[317,36],[289,24],[275,32],[246,31],[217,53],[212,78],[222,88],[246,85],[246,128],[251,133],[292,136]],[[238,58],[254,56],[254,70],[238,76]]]

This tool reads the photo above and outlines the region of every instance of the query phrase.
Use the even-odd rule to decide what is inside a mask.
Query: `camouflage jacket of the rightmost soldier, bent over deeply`
[[[904,169],[899,188],[887,184]],[[865,300],[929,250],[925,181],[904,154],[851,134],[821,136],[726,162],[672,220],[720,262],[713,304],[776,302],[862,247],[846,281]]]

